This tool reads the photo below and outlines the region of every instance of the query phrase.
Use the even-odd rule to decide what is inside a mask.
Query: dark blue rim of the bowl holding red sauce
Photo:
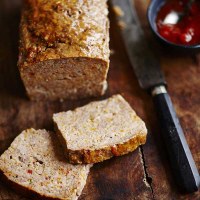
[[[164,41],[165,43],[171,45],[171,46],[174,46],[174,47],[179,47],[179,48],[183,48],[183,49],[198,49],[200,48],[200,43],[199,44],[195,44],[195,45],[181,45],[181,44],[176,44],[176,43],[173,43],[173,42],[170,42],[169,40],[165,39],[164,37],[162,37],[158,31],[156,30],[156,26],[155,26],[155,22],[154,22],[154,19],[151,18],[151,13],[152,13],[152,10],[153,10],[153,6],[154,6],[154,3],[156,2],[157,0],[152,0],[148,6],[148,9],[147,9],[147,18],[148,18],[148,22],[149,22],[149,25],[151,27],[151,30],[154,32],[154,34],[162,41]],[[164,0],[163,0],[164,2]],[[158,12],[158,9],[156,10],[155,13]]]

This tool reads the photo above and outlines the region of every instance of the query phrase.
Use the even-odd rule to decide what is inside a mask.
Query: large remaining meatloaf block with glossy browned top
[[[109,68],[107,0],[25,0],[19,70],[29,97],[102,95]]]

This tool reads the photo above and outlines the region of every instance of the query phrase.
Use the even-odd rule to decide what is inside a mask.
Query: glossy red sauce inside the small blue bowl
[[[200,44],[200,1],[192,3],[190,10],[176,24],[164,22],[171,12],[184,12],[189,0],[168,0],[158,11],[156,25],[158,33],[166,40],[179,45]]]

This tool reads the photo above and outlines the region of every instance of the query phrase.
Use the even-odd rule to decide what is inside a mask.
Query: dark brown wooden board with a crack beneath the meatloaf
[[[152,49],[160,59],[169,93],[180,117],[187,141],[200,169],[200,54],[170,53],[156,44],[146,20],[148,0],[135,0]],[[24,129],[53,130],[52,114],[94,100],[31,102],[25,94],[17,69],[20,0],[0,1],[0,153]],[[114,14],[111,19],[111,66],[106,98],[121,93],[145,120],[149,134],[146,145],[126,156],[96,164],[89,175],[81,200],[200,199],[200,193],[181,195],[173,181],[160,137],[159,123],[150,96],[142,91],[128,61]],[[149,44],[150,45],[150,44]],[[101,99],[102,99],[101,98]],[[100,99],[100,98],[96,98]],[[95,100],[96,100],[95,99]],[[29,199],[0,182],[0,200]]]

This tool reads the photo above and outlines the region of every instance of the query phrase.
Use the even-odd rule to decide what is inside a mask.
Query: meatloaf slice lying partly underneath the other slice
[[[54,133],[23,131],[0,157],[0,171],[11,185],[42,199],[76,200],[91,165],[71,165]]]

